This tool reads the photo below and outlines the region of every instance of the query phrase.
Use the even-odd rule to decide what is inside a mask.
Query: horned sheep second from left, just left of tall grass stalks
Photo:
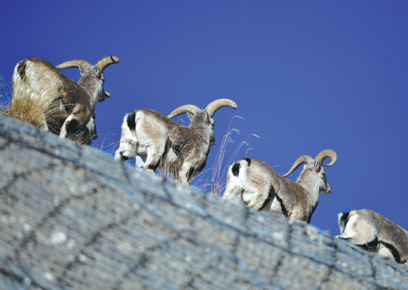
[[[200,110],[193,104],[183,105],[166,117],[150,109],[136,110],[124,116],[122,137],[115,159],[127,160],[139,155],[144,170],[154,174],[156,169],[173,175],[189,185],[203,170],[213,137],[213,114],[224,106],[237,108],[229,99],[219,99]],[[171,120],[182,113],[190,119],[188,127]]]

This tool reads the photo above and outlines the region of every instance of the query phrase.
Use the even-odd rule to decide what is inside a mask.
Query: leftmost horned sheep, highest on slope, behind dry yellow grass
[[[59,118],[57,122],[62,122],[59,132],[61,138],[67,138],[77,134],[78,131],[83,131],[88,122],[91,122],[88,130],[93,134],[96,103],[104,102],[105,98],[111,96],[104,92],[104,68],[119,62],[120,59],[110,56],[99,60],[95,66],[86,60],[73,59],[54,67],[44,59],[24,59],[14,68],[13,85],[22,87],[26,94],[14,95],[14,99],[30,97],[38,101],[45,100],[49,107],[51,105],[54,108],[57,107],[58,110],[52,113],[57,119]],[[79,68],[81,73],[79,81],[76,83],[64,76],[59,71],[64,68]],[[61,91],[64,92],[63,96],[59,95]],[[45,112],[42,119],[41,129],[50,131]],[[94,130],[91,129],[92,127]]]

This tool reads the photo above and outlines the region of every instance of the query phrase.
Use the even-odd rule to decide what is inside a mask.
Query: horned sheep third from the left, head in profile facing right
[[[289,218],[310,222],[319,203],[320,193],[329,195],[331,186],[322,168],[324,159],[330,157],[332,166],[337,154],[333,150],[322,150],[315,159],[303,155],[295,161],[285,176],[258,159],[241,159],[228,169],[227,185],[223,199],[272,213],[281,213]],[[287,177],[303,163],[304,169],[296,182]]]

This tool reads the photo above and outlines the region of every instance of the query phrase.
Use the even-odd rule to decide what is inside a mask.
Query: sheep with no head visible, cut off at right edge
[[[373,210],[339,214],[340,238],[408,266],[408,231]]]

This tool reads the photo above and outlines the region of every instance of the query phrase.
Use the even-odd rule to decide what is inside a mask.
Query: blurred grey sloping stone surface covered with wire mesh
[[[0,115],[0,289],[39,288],[408,289],[408,267]]]

